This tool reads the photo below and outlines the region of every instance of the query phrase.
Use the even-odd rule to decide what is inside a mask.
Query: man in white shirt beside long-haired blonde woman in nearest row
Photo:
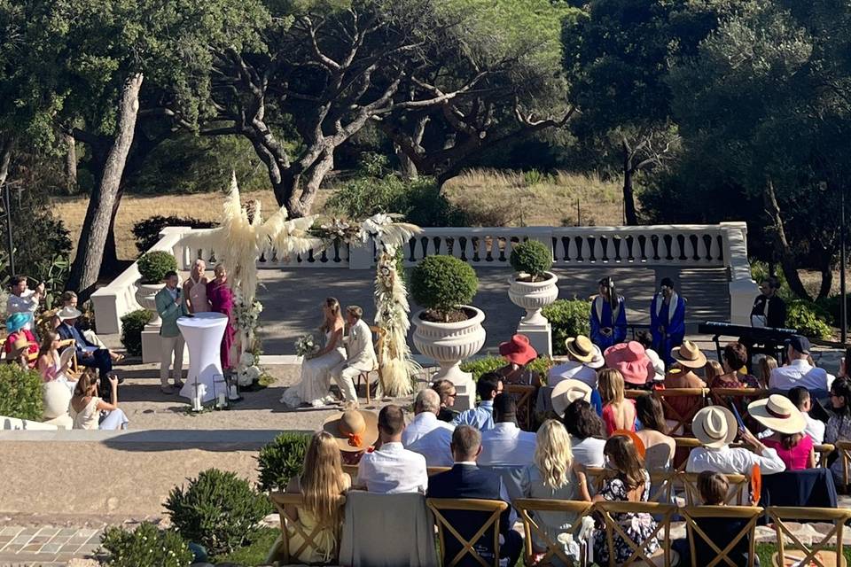
[[[402,447],[405,416],[399,406],[379,412],[381,447],[361,457],[357,482],[371,493],[426,493],[426,457]]]

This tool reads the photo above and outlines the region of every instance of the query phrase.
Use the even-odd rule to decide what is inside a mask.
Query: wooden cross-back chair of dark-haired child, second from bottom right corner
[[[747,567],[753,567],[753,561],[756,557],[756,538],[753,537],[753,534],[756,531],[756,520],[761,516],[762,511],[758,506],[687,506],[681,508],[680,515],[685,519],[685,529],[688,532],[689,547],[691,548],[691,567],[715,567],[718,564],[738,567],[739,563],[730,558],[730,553],[742,538],[747,538]],[[716,542],[700,529],[696,521],[699,518],[730,518],[746,520],[747,523],[732,540]],[[696,536],[707,542],[707,545],[714,551],[714,555],[698,557],[695,549]],[[724,546],[724,548],[720,546]]]

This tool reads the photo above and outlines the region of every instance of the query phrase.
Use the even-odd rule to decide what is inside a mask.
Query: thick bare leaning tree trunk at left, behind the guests
[[[68,289],[76,290],[84,300],[94,291],[98,283],[101,262],[104,259],[106,236],[113,218],[121,176],[133,136],[139,112],[139,90],[142,88],[141,73],[131,75],[121,89],[118,106],[118,120],[112,147],[107,153],[104,171],[98,185],[92,191],[89,209],[83,222],[77,255],[68,277]]]

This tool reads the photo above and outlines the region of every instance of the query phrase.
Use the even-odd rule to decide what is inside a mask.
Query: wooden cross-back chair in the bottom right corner
[[[816,565],[816,567],[840,567],[846,564],[843,554],[843,532],[845,524],[851,520],[851,509],[844,508],[793,508],[769,506],[771,522],[777,532],[777,553],[771,563],[777,567],[791,565]],[[833,529],[817,543],[804,545],[792,532],[786,521],[806,520],[833,524]],[[836,539],[831,544],[831,538]],[[786,548],[785,539],[792,540],[796,549]]]

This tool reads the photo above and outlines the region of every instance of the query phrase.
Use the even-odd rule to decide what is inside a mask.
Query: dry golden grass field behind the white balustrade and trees
[[[339,187],[320,191],[316,198],[316,212],[323,212],[325,201],[336,190],[340,190]],[[620,185],[588,175],[476,169],[450,180],[444,191],[479,226],[621,224]],[[246,193],[243,197],[259,200],[267,215],[276,208],[271,191]],[[53,201],[74,242],[80,234],[88,202],[88,198],[82,197],[61,197]],[[126,195],[121,199],[115,221],[119,257],[131,259],[137,256],[131,230],[138,221],[155,215],[216,221],[222,214],[222,203],[222,194],[218,192]]]

